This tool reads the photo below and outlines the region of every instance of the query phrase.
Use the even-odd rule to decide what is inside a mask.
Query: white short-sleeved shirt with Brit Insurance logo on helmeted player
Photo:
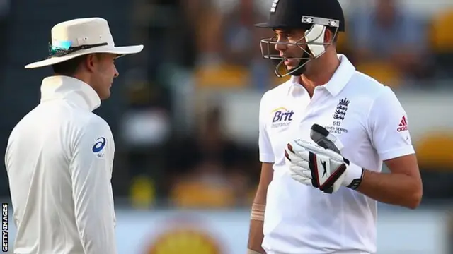
[[[311,140],[314,123],[340,138],[343,156],[372,171],[383,160],[413,154],[408,119],[394,92],[341,63],[313,98],[297,77],[269,90],[260,102],[261,162],[273,162],[263,248],[268,253],[375,253],[377,202],[340,188],[326,194],[289,176],[284,150],[290,140]]]

